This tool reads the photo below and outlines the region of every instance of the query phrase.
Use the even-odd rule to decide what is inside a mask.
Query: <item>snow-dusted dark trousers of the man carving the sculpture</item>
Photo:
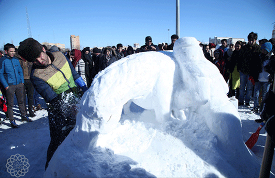
[[[65,116],[66,115],[66,116]],[[49,135],[50,142],[47,149],[47,160],[45,169],[48,166],[48,162],[50,161],[52,155],[54,154],[57,147],[63,142],[69,132],[73,129],[73,127],[64,126],[75,125],[76,117],[72,114],[63,114],[63,112],[56,112],[56,110],[48,109],[48,124],[49,124]],[[62,129],[63,128],[63,129]]]

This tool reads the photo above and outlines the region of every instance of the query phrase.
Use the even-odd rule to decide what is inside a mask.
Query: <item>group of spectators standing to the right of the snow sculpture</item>
[[[257,34],[251,32],[247,40],[247,44],[237,41],[228,45],[223,39],[221,46],[209,43],[201,47],[205,58],[217,66],[228,83],[228,97],[235,96],[239,106],[248,108],[253,101],[251,112],[259,113],[260,101],[273,85],[274,72],[270,69],[274,66],[275,39],[261,39],[256,44]]]

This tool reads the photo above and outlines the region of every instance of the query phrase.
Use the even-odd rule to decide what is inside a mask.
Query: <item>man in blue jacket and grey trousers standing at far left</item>
[[[24,76],[21,65],[17,58],[14,57],[15,47],[12,44],[5,44],[4,51],[6,55],[0,58],[0,82],[6,90],[7,116],[10,126],[15,128],[18,125],[13,118],[13,99],[16,95],[19,111],[21,113],[21,121],[31,122],[32,120],[26,116],[24,107],[23,91]]]

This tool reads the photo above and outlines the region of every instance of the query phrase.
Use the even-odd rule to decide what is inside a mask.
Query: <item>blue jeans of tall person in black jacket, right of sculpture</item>
[[[248,78],[249,78],[248,74],[243,74],[242,72],[239,71],[240,87],[239,87],[238,101],[241,103],[243,103],[243,100],[245,101],[245,103],[249,103],[251,99],[253,85],[248,80]],[[245,92],[245,87],[246,87],[246,92]],[[245,94],[245,98],[244,98],[244,94]]]

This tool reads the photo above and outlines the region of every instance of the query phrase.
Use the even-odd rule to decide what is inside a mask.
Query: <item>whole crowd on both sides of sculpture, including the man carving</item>
[[[170,45],[154,45],[152,38],[147,36],[145,44],[136,50],[131,46],[123,49],[119,43],[102,50],[85,47],[82,51],[72,49],[63,53],[56,46],[41,45],[32,38],[20,42],[18,49],[6,44],[5,54],[0,52],[0,108],[10,126],[18,128],[13,117],[14,94],[21,121],[25,122],[31,122],[29,117],[35,116],[35,110],[41,108],[38,104],[34,107],[35,95],[45,100],[51,138],[46,168],[54,151],[74,127],[76,104],[98,72],[134,53],[172,50],[177,39],[177,35],[172,35]],[[274,76],[271,69],[275,61],[275,39],[261,39],[258,45],[257,34],[251,32],[247,40],[247,44],[237,41],[228,45],[223,39],[221,46],[212,43],[200,46],[205,58],[218,68],[228,83],[228,97],[235,96],[239,105],[250,107],[253,96],[252,112],[257,113],[262,109],[259,107],[260,96],[264,98],[269,91]]]

